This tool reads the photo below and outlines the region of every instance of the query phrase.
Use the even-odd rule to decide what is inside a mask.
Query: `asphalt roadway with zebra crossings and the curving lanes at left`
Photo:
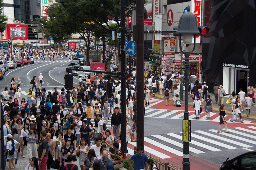
[[[50,62],[35,61],[34,65],[25,65],[17,69],[9,69],[5,73],[5,77],[0,81],[1,92],[4,87],[10,87],[12,77],[15,77],[16,82],[21,84],[22,96],[26,99],[26,94],[31,88],[29,83],[33,76],[38,78],[42,73],[44,78],[43,87],[47,91],[54,91],[54,87],[58,87],[58,91],[64,87],[65,68],[69,61],[56,59]],[[78,77],[74,76],[73,84],[78,85]],[[39,84],[37,84],[37,87]],[[145,153],[154,155],[158,159],[169,162],[177,168],[182,168],[183,157],[183,142],[182,142],[182,119],[184,116],[184,105],[175,107],[173,103],[166,106],[165,101],[155,97],[150,100],[150,106],[146,107],[144,118],[144,144]],[[256,121],[244,120],[244,124],[240,123],[240,119],[231,123],[231,116],[226,116],[228,122],[229,134],[225,133],[222,126],[222,133],[217,133],[219,124],[219,114],[212,113],[210,119],[206,119],[206,114],[203,112],[199,120],[195,119],[194,110],[189,107],[189,120],[191,123],[191,142],[190,142],[190,168],[212,170],[218,169],[219,164],[227,159],[234,158],[242,153],[256,150]],[[111,120],[111,119],[110,119]],[[110,121],[109,121],[110,122]],[[132,126],[132,121],[128,125]],[[110,123],[107,124],[110,128]],[[136,135],[136,133],[135,133]],[[120,141],[119,141],[120,142]],[[128,143],[128,151],[133,153],[133,147],[136,142]],[[26,153],[26,149],[25,149]],[[21,153],[20,153],[21,154]],[[17,169],[24,169],[28,164],[27,158],[18,159]],[[7,163],[8,164],[8,163]],[[6,167],[8,169],[8,166]],[[80,169],[80,167],[79,167]]]

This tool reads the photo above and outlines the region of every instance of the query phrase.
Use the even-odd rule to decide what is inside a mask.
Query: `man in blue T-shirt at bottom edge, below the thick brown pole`
[[[147,166],[147,155],[143,154],[143,149],[141,147],[136,148],[137,153],[132,155],[131,158],[128,159],[128,164],[131,170],[140,170],[140,169],[148,169]],[[132,168],[131,160],[134,160],[134,168]]]

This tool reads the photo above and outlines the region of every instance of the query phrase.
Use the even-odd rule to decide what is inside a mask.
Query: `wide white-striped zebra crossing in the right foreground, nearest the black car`
[[[254,127],[250,126],[244,129],[255,130]],[[189,142],[190,154],[196,155],[238,148],[252,151],[256,148],[256,135],[233,129],[228,129],[230,133],[225,133],[225,129],[221,129],[222,133],[217,133],[217,131],[217,129],[192,131],[191,142]],[[129,141],[129,153],[133,153],[133,147],[136,147],[136,142]],[[146,136],[144,137],[144,150],[161,159],[183,156],[182,132]]]

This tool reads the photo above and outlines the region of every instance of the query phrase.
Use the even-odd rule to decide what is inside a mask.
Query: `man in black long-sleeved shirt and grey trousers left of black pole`
[[[118,138],[119,128],[121,126],[121,113],[119,113],[119,108],[115,107],[115,113],[111,116],[111,129],[113,129],[113,134]]]

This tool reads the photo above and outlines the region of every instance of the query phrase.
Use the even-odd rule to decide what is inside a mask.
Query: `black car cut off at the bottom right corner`
[[[256,170],[256,151],[228,159],[220,164],[220,170]]]

